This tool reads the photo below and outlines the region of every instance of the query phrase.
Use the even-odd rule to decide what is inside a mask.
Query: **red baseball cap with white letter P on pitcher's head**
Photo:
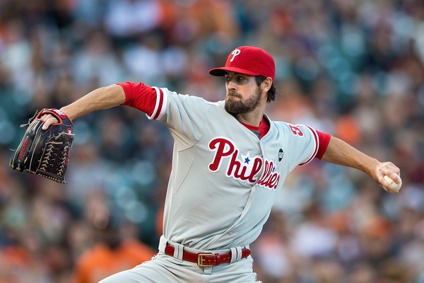
[[[246,74],[249,76],[276,76],[276,64],[273,57],[265,50],[254,46],[240,46],[228,55],[225,67],[209,70],[212,76],[224,76],[225,71]]]

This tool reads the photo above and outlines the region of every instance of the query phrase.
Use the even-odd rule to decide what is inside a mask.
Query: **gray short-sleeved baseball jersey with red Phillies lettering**
[[[317,154],[317,132],[270,120],[269,132],[259,139],[225,111],[224,101],[153,89],[155,101],[150,111],[144,110],[175,139],[165,238],[198,250],[249,245],[268,219],[286,175]],[[136,104],[126,105],[131,103]]]

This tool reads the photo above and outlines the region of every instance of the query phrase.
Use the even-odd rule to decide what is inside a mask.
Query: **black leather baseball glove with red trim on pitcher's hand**
[[[53,115],[59,122],[44,130],[41,117],[47,114]],[[25,170],[57,183],[66,183],[65,173],[73,143],[73,124],[69,117],[57,109],[43,109],[35,112],[34,117],[20,127],[28,129],[9,166],[20,172]]]

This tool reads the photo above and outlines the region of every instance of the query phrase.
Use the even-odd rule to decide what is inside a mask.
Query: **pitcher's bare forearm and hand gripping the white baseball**
[[[329,146],[321,159],[322,161],[363,171],[370,175],[370,177],[387,192],[397,192],[397,190],[392,188],[387,180],[384,180],[385,175],[394,180],[397,184],[401,183],[401,171],[393,163],[379,162],[377,159],[363,154],[363,152],[358,151],[358,149],[355,149],[353,146],[336,137],[331,137]]]

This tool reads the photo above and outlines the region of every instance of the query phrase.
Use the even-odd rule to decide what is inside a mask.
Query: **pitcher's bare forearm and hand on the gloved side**
[[[60,110],[64,112],[69,119],[73,120],[89,112],[112,108],[121,105],[124,102],[124,90],[121,86],[112,84],[110,86],[97,88],[88,93],[86,96],[64,106]],[[45,120],[45,125],[42,127],[43,129],[47,129],[50,125],[57,122],[56,118],[52,115],[42,117],[42,120]]]

